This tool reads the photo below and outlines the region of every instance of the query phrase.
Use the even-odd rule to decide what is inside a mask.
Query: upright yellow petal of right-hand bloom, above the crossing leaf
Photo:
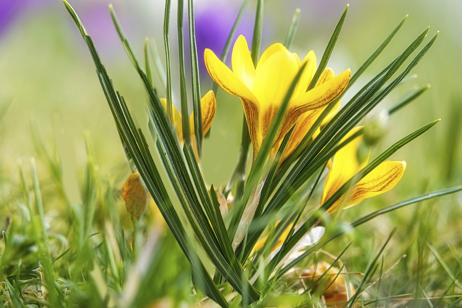
[[[353,128],[346,134],[342,141],[349,138],[361,128],[362,127]],[[362,138],[362,136],[356,137],[335,153],[334,162],[329,171],[329,178],[324,182],[324,192],[322,193],[321,204],[329,199],[329,197],[332,196],[337,189],[339,189],[346,181],[355,175],[356,172],[367,164],[367,160],[364,163],[359,164],[356,156],[358,145]]]

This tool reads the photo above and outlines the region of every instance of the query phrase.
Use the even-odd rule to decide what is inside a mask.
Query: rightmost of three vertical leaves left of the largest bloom
[[[196,32],[194,24],[193,0],[188,0],[188,23],[189,23],[189,54],[191,56],[191,82],[193,89],[194,133],[196,135],[196,147],[199,157],[202,157],[202,109],[201,109],[201,85],[199,83],[199,62],[197,58]]]

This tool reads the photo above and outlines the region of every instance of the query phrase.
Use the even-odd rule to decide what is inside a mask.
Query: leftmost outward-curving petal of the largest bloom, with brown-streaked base
[[[254,147],[254,153],[258,152],[261,145],[261,136],[259,133],[260,103],[249,88],[231,72],[228,66],[218,59],[212,50],[207,48],[204,51],[204,61],[213,81],[226,92],[241,98],[245,118],[249,125],[249,134]]]

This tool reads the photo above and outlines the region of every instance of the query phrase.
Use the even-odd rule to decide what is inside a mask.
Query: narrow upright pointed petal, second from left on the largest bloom
[[[247,41],[242,35],[237,38],[232,48],[231,65],[236,77],[249,89],[252,89],[255,79],[255,66],[250,57]]]

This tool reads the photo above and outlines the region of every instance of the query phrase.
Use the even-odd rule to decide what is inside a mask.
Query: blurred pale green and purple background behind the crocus
[[[85,168],[85,131],[91,134],[100,175],[110,177],[116,187],[121,187],[130,169],[90,54],[72,18],[59,0],[3,1],[6,4],[0,5],[0,100],[11,99],[12,105],[0,126],[0,202],[6,202],[16,189],[18,159],[27,161],[29,157],[36,156],[31,130],[39,131],[49,151],[55,149],[59,153],[63,163],[65,190],[72,204],[81,202],[79,191]],[[11,2],[11,6],[7,2]],[[237,31],[237,35],[244,34],[248,42],[251,42],[255,2],[250,1]],[[139,125],[146,128],[145,91],[112,26],[108,2],[74,0],[70,3],[93,37],[116,88],[125,97]],[[262,50],[274,42],[284,41],[292,14],[299,7],[301,19],[291,49],[300,56],[313,49],[319,61],[347,3],[344,0],[265,1]],[[430,36],[440,31],[436,43],[411,72],[418,77],[395,89],[377,109],[390,107],[416,86],[430,83],[432,87],[389,119],[389,132],[373,149],[371,157],[418,127],[442,119],[435,128],[393,155],[392,159],[407,162],[402,180],[391,192],[366,200],[348,210],[345,214],[347,219],[353,219],[374,208],[462,182],[459,160],[462,2],[352,0],[349,3],[345,25],[328,64],[336,73],[348,67],[354,73],[395,25],[406,14],[409,17],[389,46],[363,74],[357,85],[352,87],[350,93],[346,94],[343,103],[400,54],[427,26],[431,26]],[[158,51],[164,60],[164,1],[114,0],[113,5],[138,54],[142,55],[144,38],[147,36],[151,42],[157,42]],[[220,53],[240,5],[241,1],[235,0],[196,1],[196,34],[200,54],[206,47],[212,48],[216,54]],[[176,90],[179,83],[176,3],[172,4],[171,14],[172,76]],[[204,94],[211,89],[212,81],[203,66],[201,69],[201,90]],[[190,76],[189,72],[187,76]],[[155,80],[161,89],[157,76]],[[178,90],[176,96],[179,96]],[[231,177],[240,145],[241,106],[239,99],[219,90],[217,113],[210,138],[204,142],[201,163],[208,185],[219,187]],[[152,151],[156,151],[151,140],[149,144]],[[43,163],[39,163],[38,167],[44,183],[43,189],[46,190],[48,171]],[[51,194],[51,188],[49,192]],[[425,220],[416,218],[418,205],[397,211],[368,223],[367,227],[359,228],[357,236],[363,236],[365,240],[375,236],[382,238],[394,225],[400,225],[403,227],[398,230],[398,234],[405,246],[407,237],[413,236],[413,230],[419,228],[413,223],[419,221],[432,229],[435,242],[453,241],[456,244],[460,241],[460,197],[460,194],[444,197],[438,203],[432,203],[428,211],[432,215],[428,214]],[[52,197],[49,195],[48,198]],[[45,210],[50,211],[53,202],[45,202],[45,206]],[[128,213],[124,215],[128,220]],[[332,249],[335,250],[335,247]],[[361,250],[354,251],[361,254]]]

